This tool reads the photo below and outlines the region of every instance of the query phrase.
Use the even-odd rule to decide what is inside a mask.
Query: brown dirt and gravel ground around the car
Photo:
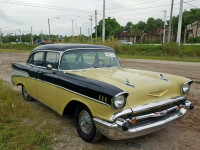
[[[0,78],[10,82],[11,63],[25,62],[28,54],[25,53],[0,53]],[[191,86],[190,99],[195,109],[188,112],[186,116],[171,126],[158,132],[145,135],[135,139],[111,141],[104,138],[99,143],[89,144],[78,137],[74,127],[74,120],[71,117],[52,117],[52,121],[57,122],[57,127],[62,132],[54,134],[52,148],[56,150],[65,149],[194,149],[200,147],[200,63],[124,59],[120,58],[123,67],[156,72],[170,73],[188,77],[195,81]],[[33,107],[43,109],[40,103],[33,104]],[[51,110],[48,110],[51,112]],[[49,116],[49,115],[47,115]]]

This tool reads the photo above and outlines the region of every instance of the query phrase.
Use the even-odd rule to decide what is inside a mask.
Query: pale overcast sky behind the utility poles
[[[184,9],[200,8],[200,0],[184,0]],[[163,18],[163,10],[170,15],[171,0],[106,0],[106,17],[114,17],[121,25],[128,21],[137,23],[147,21],[149,17]],[[180,0],[174,0],[174,13],[179,12]],[[94,11],[98,11],[98,21],[102,19],[103,0],[0,0],[0,28],[5,33],[39,34],[41,30],[48,34],[48,18],[51,33],[58,35],[72,34],[72,19],[75,35],[88,35],[89,16],[94,19]],[[59,17],[59,19],[55,19]],[[93,21],[93,27],[95,21]]]

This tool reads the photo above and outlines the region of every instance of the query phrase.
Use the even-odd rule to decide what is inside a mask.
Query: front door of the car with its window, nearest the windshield
[[[56,110],[59,53],[48,51],[45,56],[44,67],[38,71],[37,96],[40,101]],[[48,70],[47,65],[51,65],[52,69]]]

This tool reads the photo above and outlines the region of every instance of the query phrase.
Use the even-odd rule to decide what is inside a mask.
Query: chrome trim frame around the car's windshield
[[[60,69],[61,59],[62,59],[62,56],[65,52],[72,51],[72,50],[81,50],[81,49],[88,49],[88,50],[95,50],[95,49],[100,50],[100,49],[102,49],[102,50],[104,50],[103,48],[73,48],[73,49],[64,50],[64,51],[61,52],[61,56],[60,56],[59,63],[58,63],[58,70],[66,73],[66,72],[72,72],[72,71],[85,71],[85,70],[96,70],[96,69],[108,68],[108,67],[102,67],[102,68],[87,68],[87,69],[76,69],[76,70],[62,70],[62,69]],[[105,48],[105,50],[110,50],[110,51],[113,51],[115,53],[115,50],[113,50],[112,48],[107,48],[107,49]],[[115,53],[115,55],[116,55],[116,53]],[[118,58],[117,58],[117,60],[118,60]],[[109,67],[109,68],[122,68],[120,62],[119,62],[119,65],[120,65],[120,67]]]

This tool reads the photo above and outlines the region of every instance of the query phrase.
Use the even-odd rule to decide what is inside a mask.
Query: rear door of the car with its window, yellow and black
[[[44,65],[44,52],[39,51],[32,53],[27,61],[27,70],[29,73],[29,80],[27,84],[27,91],[33,98],[37,97],[37,79],[39,68]]]

